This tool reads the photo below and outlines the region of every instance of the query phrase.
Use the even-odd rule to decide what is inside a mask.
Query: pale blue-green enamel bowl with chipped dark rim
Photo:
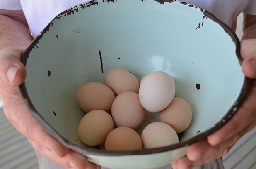
[[[36,120],[63,145],[111,169],[152,169],[186,155],[186,147],[225,125],[246,99],[235,33],[212,14],[175,0],[101,0],[56,16],[25,50],[22,97]],[[77,89],[102,82],[112,68],[140,80],[153,71],[174,78],[176,96],[188,101],[193,119],[180,142],[136,151],[106,151],[83,144],[77,134],[85,115]],[[137,130],[159,121],[147,113]]]

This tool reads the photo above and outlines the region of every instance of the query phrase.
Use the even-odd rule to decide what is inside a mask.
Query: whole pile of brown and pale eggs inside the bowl
[[[192,111],[184,99],[174,97],[175,83],[168,73],[150,73],[139,83],[128,70],[114,68],[105,81],[106,85],[86,83],[77,91],[78,105],[88,112],[78,126],[83,143],[105,143],[106,150],[138,150],[179,142],[177,133],[188,128]],[[135,130],[146,110],[159,112],[160,122],[148,124],[140,136]]]

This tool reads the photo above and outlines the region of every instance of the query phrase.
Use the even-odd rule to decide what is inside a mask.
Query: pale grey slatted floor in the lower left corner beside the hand
[[[0,169],[39,169],[36,153],[0,110]]]

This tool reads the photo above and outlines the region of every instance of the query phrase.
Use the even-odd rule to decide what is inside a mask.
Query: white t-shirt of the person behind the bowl
[[[33,37],[60,12],[89,0],[0,0],[0,9],[23,10]],[[256,0],[183,0],[214,14],[228,26],[241,12],[256,15]]]

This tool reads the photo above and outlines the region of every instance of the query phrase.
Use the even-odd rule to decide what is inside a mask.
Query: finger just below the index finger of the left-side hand
[[[94,169],[94,165],[88,162],[87,158],[79,153],[76,153],[72,150],[69,150],[67,155],[64,157],[59,157],[56,153],[48,150],[45,147],[37,144],[34,141],[29,140],[31,145],[44,157],[51,159],[53,162],[56,162],[63,167],[67,167],[70,169]],[[88,167],[88,168],[87,168]],[[96,169],[96,167],[95,167]]]

